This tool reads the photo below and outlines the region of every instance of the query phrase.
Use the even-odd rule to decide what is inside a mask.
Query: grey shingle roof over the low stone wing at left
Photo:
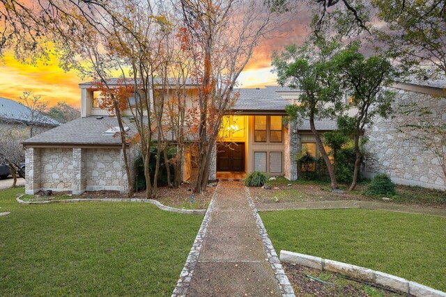
[[[26,139],[24,145],[45,144],[72,144],[72,145],[120,145],[121,138],[107,130],[118,127],[116,117],[104,116],[98,120],[97,116],[78,118],[64,125],[46,131],[42,134]],[[125,119],[123,119],[125,121]],[[133,125],[129,127],[129,134],[134,134]]]

